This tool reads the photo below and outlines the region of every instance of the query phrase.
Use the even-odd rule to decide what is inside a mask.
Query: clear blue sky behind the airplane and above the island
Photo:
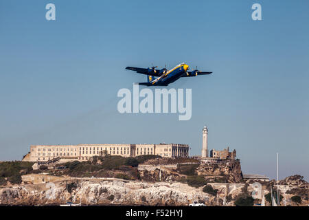
[[[45,5],[56,5],[56,21]],[[262,21],[251,5],[262,5]],[[236,148],[243,173],[309,177],[309,2],[0,2],[0,160],[30,144],[185,143]],[[120,114],[117,91],[146,76],[128,65],[185,62],[192,119]]]

